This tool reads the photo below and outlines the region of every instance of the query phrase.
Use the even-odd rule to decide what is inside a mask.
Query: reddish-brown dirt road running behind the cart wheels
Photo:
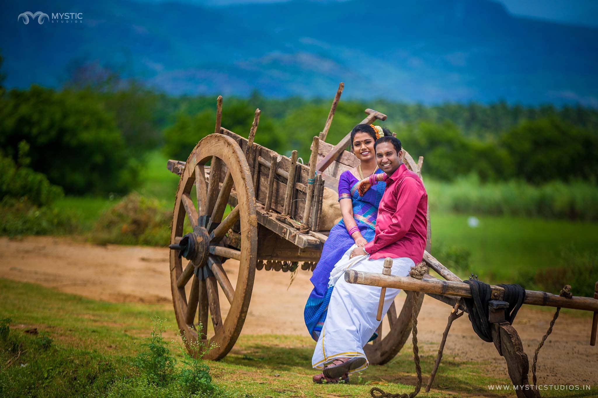
[[[97,300],[163,303],[170,306],[168,249],[141,246],[97,246],[68,238],[0,238],[0,277],[59,289]],[[224,268],[236,283],[238,263]],[[311,290],[309,271],[299,271],[289,285],[289,273],[257,271],[243,334],[306,335],[303,306]],[[399,294],[398,301],[404,300]],[[397,303],[399,304],[399,303]],[[426,297],[418,317],[420,351],[435,353],[450,307]],[[553,314],[521,308],[514,326],[531,360]],[[591,347],[591,317],[561,314],[538,360],[540,384],[598,384],[598,346]],[[388,330],[388,326],[386,328]],[[453,323],[444,350],[445,360],[484,361],[498,375],[507,375],[504,359],[492,343],[475,335],[466,316]],[[531,372],[530,372],[531,381]]]

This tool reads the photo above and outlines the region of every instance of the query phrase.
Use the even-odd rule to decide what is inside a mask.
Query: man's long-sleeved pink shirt
[[[372,260],[409,257],[422,261],[428,232],[428,194],[422,180],[402,163],[386,179],[374,240],[365,245]]]

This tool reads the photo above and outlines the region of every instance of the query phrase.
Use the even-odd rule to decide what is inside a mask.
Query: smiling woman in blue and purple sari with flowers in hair
[[[359,196],[356,188],[359,181],[367,179],[371,174],[382,173],[376,163],[374,142],[383,135],[391,135],[391,133],[380,126],[369,124],[358,124],[351,131],[351,146],[353,153],[359,159],[359,166],[340,175],[338,201],[343,218],[332,227],[324,243],[320,261],[310,279],[313,290],[307,299],[303,313],[307,330],[315,341],[318,341],[326,319],[333,289],[333,286],[328,286],[328,282],[334,264],[351,246],[365,246],[374,239],[378,205],[386,183],[377,183],[367,190],[364,196]]]

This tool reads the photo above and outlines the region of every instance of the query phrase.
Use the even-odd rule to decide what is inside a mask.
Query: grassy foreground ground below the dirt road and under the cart
[[[12,319],[10,340],[0,338],[0,396],[185,396],[176,384],[148,385],[135,366],[155,316],[170,326],[166,340],[175,339],[170,306],[103,303],[0,279],[0,319]],[[37,328],[39,335],[25,334],[30,328]],[[48,347],[40,344],[42,338],[53,341]],[[25,351],[11,351],[10,341],[22,342]],[[420,343],[424,385],[436,344]],[[243,335],[223,360],[205,363],[221,388],[218,396],[357,397],[369,396],[371,387],[391,393],[413,390],[416,377],[410,344],[389,364],[370,366],[349,384],[339,385],[313,384],[312,351],[313,341],[306,337]],[[180,368],[181,354],[176,357]],[[491,366],[446,354],[435,387],[423,396],[486,395],[487,385],[508,383],[490,376]]]

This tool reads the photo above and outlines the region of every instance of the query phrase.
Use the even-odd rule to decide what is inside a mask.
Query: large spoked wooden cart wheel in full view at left
[[[210,171],[206,183],[208,162]],[[219,183],[224,175],[224,181]],[[196,190],[197,203],[193,202],[192,189]],[[222,220],[231,194],[236,197],[231,203],[237,205]],[[185,218],[193,232],[183,235]],[[240,223],[240,250],[225,245],[225,235],[237,221]],[[198,338],[205,344],[216,343],[217,347],[205,358],[221,359],[233,348],[243,328],[257,259],[254,187],[245,153],[233,138],[210,134],[199,141],[189,155],[176,192],[170,243],[172,301],[187,348],[195,354],[189,343]],[[234,288],[222,267],[229,258],[239,261]],[[218,286],[225,297],[219,295]],[[213,326],[210,332],[208,313]]]

